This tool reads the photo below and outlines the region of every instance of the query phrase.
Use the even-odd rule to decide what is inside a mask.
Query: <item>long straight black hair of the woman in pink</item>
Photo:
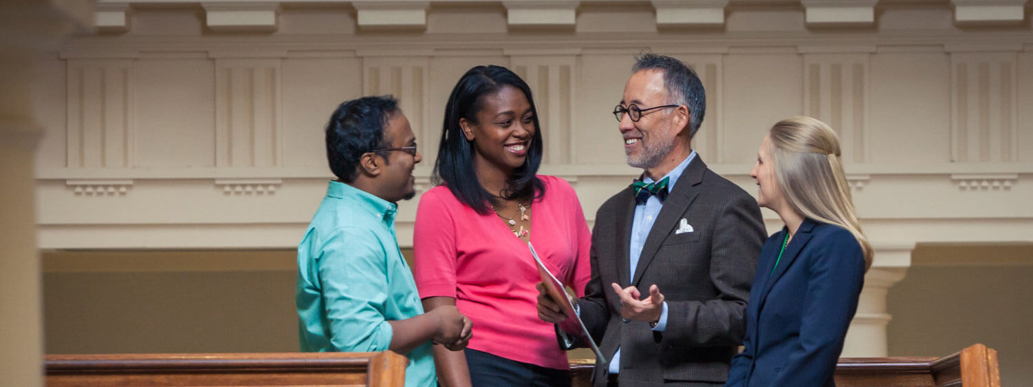
[[[506,188],[502,199],[540,197],[545,192],[545,186],[535,175],[541,164],[541,126],[538,124],[538,110],[534,107],[531,88],[515,73],[502,66],[476,66],[471,68],[459,79],[448,96],[445,104],[445,119],[441,131],[441,146],[438,148],[438,158],[434,162],[434,184],[444,184],[457,199],[469,205],[478,214],[492,212],[490,205],[498,204],[499,199],[488,192],[477,181],[474,170],[474,147],[463,135],[460,119],[477,122],[477,112],[483,107],[483,97],[495,94],[506,86],[511,86],[524,92],[534,120],[534,136],[527,151],[524,165],[513,170],[506,180]]]

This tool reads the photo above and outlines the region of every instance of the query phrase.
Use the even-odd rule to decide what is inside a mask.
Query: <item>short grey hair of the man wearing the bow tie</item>
[[[685,62],[676,58],[653,53],[635,57],[631,72],[657,69],[663,71],[663,86],[667,89],[667,103],[689,106],[689,138],[695,137],[699,125],[707,114],[707,93],[699,76]]]

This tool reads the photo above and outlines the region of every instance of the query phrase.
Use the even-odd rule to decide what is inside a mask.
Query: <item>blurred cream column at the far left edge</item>
[[[59,4],[60,3],[60,4]],[[0,5],[0,381],[42,386],[43,334],[36,250],[33,62],[71,25],[88,25],[92,2]]]

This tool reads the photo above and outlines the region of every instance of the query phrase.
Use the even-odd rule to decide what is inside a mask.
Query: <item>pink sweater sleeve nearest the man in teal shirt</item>
[[[413,275],[419,297],[456,298],[456,224],[448,203],[440,195],[448,190],[431,190],[419,199],[413,227]]]

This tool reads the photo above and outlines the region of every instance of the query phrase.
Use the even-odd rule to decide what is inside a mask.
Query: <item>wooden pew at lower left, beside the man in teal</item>
[[[395,352],[46,355],[46,386],[405,386]]]

